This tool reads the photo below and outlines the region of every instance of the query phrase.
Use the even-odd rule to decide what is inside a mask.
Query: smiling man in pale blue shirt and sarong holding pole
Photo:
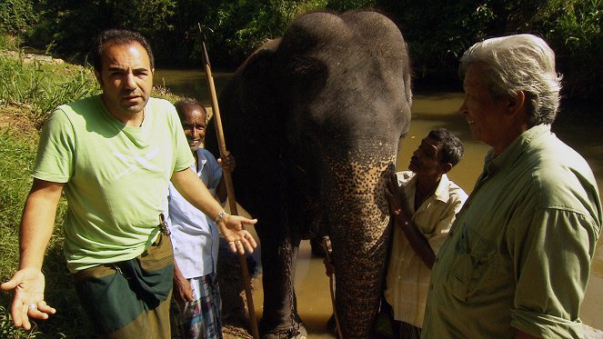
[[[216,160],[202,147],[206,137],[206,107],[191,98],[180,100],[175,106],[195,157],[192,168],[216,201],[226,204],[224,173],[235,169],[235,157],[227,153]],[[167,201],[176,259],[170,311],[172,338],[222,338],[222,301],[216,276],[220,239],[216,224],[188,204],[173,184],[169,185]]]

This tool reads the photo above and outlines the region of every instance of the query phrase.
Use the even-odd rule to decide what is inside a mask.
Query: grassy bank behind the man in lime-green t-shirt
[[[8,42],[8,43],[7,43]],[[100,93],[90,67],[27,60],[10,39],[0,36],[0,281],[15,273],[19,261],[19,223],[31,187],[38,133],[57,105]],[[5,48],[13,49],[7,51]],[[175,102],[166,88],[153,96]],[[10,314],[13,294],[0,291],[0,338],[89,338],[95,334],[75,294],[63,255],[61,222],[66,210],[61,200],[55,232],[46,250],[45,300],[56,308],[32,330],[16,329]]]

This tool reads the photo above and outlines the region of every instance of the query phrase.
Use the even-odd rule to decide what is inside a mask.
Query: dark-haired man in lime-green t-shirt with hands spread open
[[[154,59],[142,35],[103,32],[92,59],[103,93],[59,106],[45,124],[21,221],[19,271],[2,289],[15,289],[17,327],[55,314],[41,269],[65,192],[67,267],[97,333],[166,338],[174,270],[162,214],[168,182],[214,218],[233,252],[256,247],[244,228],[256,220],[226,214],[190,169],[176,109],[150,97]]]

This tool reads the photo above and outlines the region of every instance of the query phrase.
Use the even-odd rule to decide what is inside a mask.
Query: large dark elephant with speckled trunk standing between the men
[[[304,337],[292,278],[302,239],[327,234],[345,338],[377,317],[391,225],[387,179],[410,121],[407,45],[371,11],[300,15],[219,95],[236,200],[258,218],[262,338]],[[216,152],[214,129],[206,147]]]

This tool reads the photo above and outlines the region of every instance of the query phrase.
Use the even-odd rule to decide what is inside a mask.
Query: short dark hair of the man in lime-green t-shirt
[[[151,69],[154,69],[155,58],[153,57],[153,51],[151,50],[151,45],[148,44],[143,35],[126,29],[109,29],[96,36],[92,45],[92,65],[94,65],[95,71],[100,74],[103,70],[101,56],[106,45],[127,45],[132,43],[138,43],[145,48]]]

